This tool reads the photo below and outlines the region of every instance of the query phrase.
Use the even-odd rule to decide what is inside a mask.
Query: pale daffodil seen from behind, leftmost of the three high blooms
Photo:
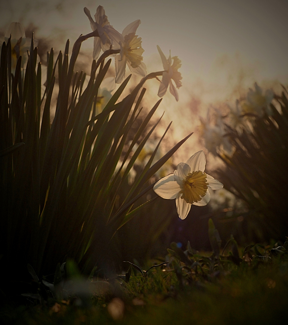
[[[99,37],[94,37],[93,59],[97,60],[101,49],[105,52],[109,50],[110,45],[112,45],[112,48],[119,48],[118,42],[121,34],[110,25],[104,8],[98,6],[94,15],[95,21],[92,19],[90,11],[86,7],[84,8],[84,12],[90,20],[92,31],[94,32],[97,29],[99,33]]]

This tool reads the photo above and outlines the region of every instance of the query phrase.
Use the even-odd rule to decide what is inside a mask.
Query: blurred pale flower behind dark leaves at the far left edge
[[[11,69],[15,71],[17,60],[21,56],[21,67],[27,62],[28,55],[27,50],[30,51],[31,38],[26,38],[25,30],[23,26],[18,22],[12,22],[5,32],[4,40],[7,44],[11,35]],[[0,40],[2,41],[2,39]],[[37,46],[38,42],[34,40],[34,46]]]

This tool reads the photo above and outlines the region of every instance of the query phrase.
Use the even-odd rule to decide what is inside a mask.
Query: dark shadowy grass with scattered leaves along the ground
[[[226,254],[216,257],[189,244],[183,252],[172,243],[165,257],[169,264],[143,271],[144,276],[128,263],[126,275],[117,279],[84,281],[74,273],[70,284],[82,283],[82,291],[65,299],[47,291],[41,304],[22,297],[18,306],[2,305],[1,318],[5,324],[284,324],[287,242],[238,248],[239,261],[231,258],[237,255],[234,245],[230,240]]]

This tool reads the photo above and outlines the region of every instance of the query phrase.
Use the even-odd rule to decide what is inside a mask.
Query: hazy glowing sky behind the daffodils
[[[148,72],[162,70],[156,45],[166,57],[171,50],[181,59],[180,99],[176,102],[168,91],[159,111],[175,121],[176,140],[193,131],[211,103],[234,100],[240,86],[288,84],[287,0],[0,0],[0,31],[13,21],[24,27],[32,22],[38,27],[35,38],[47,37],[63,50],[67,38],[73,44],[80,34],[91,32],[83,8],[93,17],[99,5],[119,32],[141,19],[137,34]],[[82,51],[91,60],[92,50],[89,39]],[[157,92],[149,93],[154,103]]]

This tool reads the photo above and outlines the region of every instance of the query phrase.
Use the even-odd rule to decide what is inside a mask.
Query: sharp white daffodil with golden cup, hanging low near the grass
[[[163,199],[176,199],[180,219],[186,218],[192,204],[203,206],[210,201],[209,188],[223,188],[222,183],[204,172],[205,164],[204,152],[198,151],[186,162],[180,162],[174,174],[161,178],[153,187]]]

